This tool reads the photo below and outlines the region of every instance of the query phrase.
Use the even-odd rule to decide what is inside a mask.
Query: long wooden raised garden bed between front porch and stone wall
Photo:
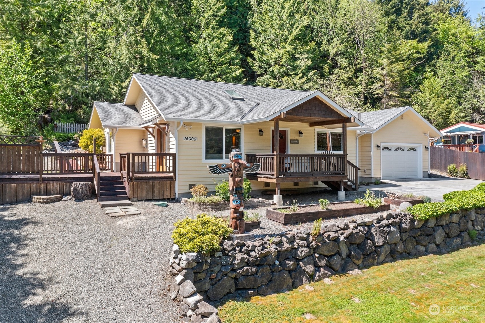
[[[350,216],[357,214],[366,214],[372,212],[380,212],[390,210],[389,204],[383,204],[377,209],[356,204],[353,201],[330,203],[330,210],[322,210],[320,205],[301,205],[296,212],[284,213],[278,210],[289,209],[291,207],[279,207],[266,209],[266,217],[270,220],[282,223],[293,224],[300,222],[315,221],[320,218],[331,219],[339,218],[341,216]]]

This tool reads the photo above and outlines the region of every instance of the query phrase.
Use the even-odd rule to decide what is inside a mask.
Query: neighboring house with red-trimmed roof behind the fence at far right
[[[437,138],[435,145],[464,145],[468,139],[473,139],[474,145],[480,145],[479,151],[485,152],[484,124],[460,122],[440,131],[443,136]]]

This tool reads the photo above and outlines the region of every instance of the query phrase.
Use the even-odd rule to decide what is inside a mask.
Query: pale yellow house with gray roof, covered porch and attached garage
[[[427,177],[428,136],[441,135],[411,107],[357,113],[320,91],[146,74],[133,74],[123,103],[94,102],[89,128],[104,129],[106,152],[126,182],[146,183],[129,196],[171,180],[177,197],[196,184],[214,191],[225,178],[207,165],[227,161],[232,149],[261,163],[246,174],[253,190],[276,195]]]

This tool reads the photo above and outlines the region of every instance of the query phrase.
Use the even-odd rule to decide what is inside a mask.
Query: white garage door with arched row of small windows
[[[418,146],[382,145],[382,179],[420,178]]]

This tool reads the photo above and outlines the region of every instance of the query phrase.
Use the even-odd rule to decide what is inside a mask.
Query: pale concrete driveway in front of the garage
[[[416,178],[416,179],[384,179],[386,184],[359,187],[359,191],[366,189],[376,192],[413,193],[414,195],[427,195],[434,201],[443,201],[443,194],[452,191],[469,190],[482,180],[467,178]]]

